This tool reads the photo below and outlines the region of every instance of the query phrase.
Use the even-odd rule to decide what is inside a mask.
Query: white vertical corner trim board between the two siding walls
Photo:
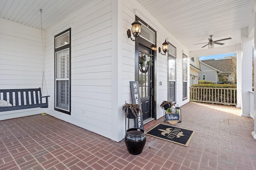
[[[112,139],[124,138],[122,112],[122,0],[112,0]]]

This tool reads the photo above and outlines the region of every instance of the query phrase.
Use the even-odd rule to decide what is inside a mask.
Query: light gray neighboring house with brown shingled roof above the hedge
[[[201,80],[212,81],[214,83],[220,82],[220,76],[225,79],[225,81],[232,81],[232,65],[230,64],[232,59],[222,59],[222,60],[202,60],[200,61],[200,66],[202,72],[199,74]]]

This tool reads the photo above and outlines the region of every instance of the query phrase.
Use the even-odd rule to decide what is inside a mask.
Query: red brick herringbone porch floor
[[[181,107],[176,127],[195,131],[188,147],[147,135],[136,156],[117,143],[50,115],[0,121],[0,170],[255,170],[254,121],[241,109]],[[163,122],[163,117],[157,123]],[[166,123],[168,124],[168,123]],[[147,129],[146,129],[147,130]]]

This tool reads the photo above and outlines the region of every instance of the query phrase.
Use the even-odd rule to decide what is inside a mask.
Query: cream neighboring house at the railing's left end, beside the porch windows
[[[198,84],[200,72],[202,71],[200,69],[199,57],[190,57],[190,86]]]

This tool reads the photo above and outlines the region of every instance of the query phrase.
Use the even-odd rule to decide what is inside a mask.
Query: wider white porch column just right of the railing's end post
[[[242,115],[250,117],[250,94],[252,90],[252,39],[248,39],[248,31],[241,30],[242,37]]]

